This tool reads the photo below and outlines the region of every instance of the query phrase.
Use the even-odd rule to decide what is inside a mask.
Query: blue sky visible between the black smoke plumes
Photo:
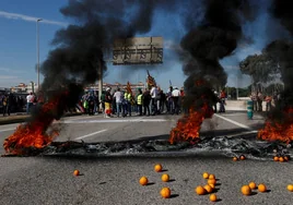
[[[58,29],[65,28],[71,20],[60,13],[67,0],[1,0],[0,1],[0,87],[16,86],[19,83],[37,82],[37,44],[36,20],[39,22],[39,60],[46,60],[54,49],[51,40]],[[244,33],[251,38],[251,44],[244,44],[231,57],[221,60],[228,74],[227,86],[245,87],[250,77],[242,75],[238,69],[241,60],[248,55],[260,53],[268,44],[266,25],[269,15],[260,13],[254,22],[244,25]],[[166,26],[169,25],[169,26]],[[169,82],[181,87],[186,76],[181,71],[181,62],[175,55],[180,38],[186,31],[177,13],[155,13],[150,33],[141,36],[162,36],[164,38],[164,63],[150,67],[150,73],[157,84],[166,89]],[[105,59],[107,60],[107,59]],[[146,71],[131,70],[124,65],[107,63],[106,83],[145,82]],[[140,67],[140,65],[138,65]],[[43,76],[40,76],[40,81]]]

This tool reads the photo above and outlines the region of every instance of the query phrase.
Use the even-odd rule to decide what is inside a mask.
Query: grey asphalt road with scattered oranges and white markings
[[[132,117],[105,119],[102,116],[69,117],[56,122],[62,132],[56,141],[129,141],[168,138],[178,117]],[[247,120],[245,112],[215,114],[206,120],[201,134],[237,135],[256,132],[263,119]],[[0,142],[13,133],[17,124],[0,126]],[[0,149],[3,153],[3,148]],[[108,157],[1,157],[0,204],[211,204],[209,196],[198,196],[197,185],[204,185],[202,172],[219,179],[218,204],[292,204],[293,193],[286,185],[293,183],[292,162],[273,162],[210,155],[145,155]],[[163,183],[162,173],[153,171],[162,164],[172,182]],[[82,176],[74,177],[74,169]],[[150,184],[141,186],[139,179],[146,176]],[[255,192],[244,196],[241,186],[249,181],[265,183],[267,193]],[[169,186],[172,198],[163,200],[160,190]]]

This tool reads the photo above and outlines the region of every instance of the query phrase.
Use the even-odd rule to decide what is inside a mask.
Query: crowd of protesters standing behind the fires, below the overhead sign
[[[137,89],[136,93],[117,88],[112,91],[107,87],[103,92],[101,99],[94,92],[87,92],[81,97],[79,107],[89,114],[94,114],[99,111],[106,118],[110,117],[131,117],[137,116],[155,116],[161,113],[179,114],[183,111],[184,89],[178,89],[177,86],[169,86],[165,93],[157,86],[151,89]]]

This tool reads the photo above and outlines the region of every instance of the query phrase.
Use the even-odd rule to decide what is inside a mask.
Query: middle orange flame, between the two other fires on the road
[[[199,140],[200,125],[206,118],[210,118],[212,114],[213,111],[208,104],[197,111],[189,109],[189,114],[178,120],[176,128],[171,131],[169,143]]]

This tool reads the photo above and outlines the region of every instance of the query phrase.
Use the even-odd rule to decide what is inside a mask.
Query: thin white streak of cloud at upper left
[[[9,13],[9,12],[4,12],[4,11],[0,11],[0,16],[9,19],[9,20],[22,20],[22,21],[26,21],[26,22],[36,22],[38,19],[42,19],[42,17],[23,15],[23,14],[19,14],[19,13]],[[59,25],[59,26],[67,26],[68,25],[68,23],[65,23],[65,22],[56,22],[56,21],[50,21],[50,20],[45,20],[45,19],[42,20],[42,23]]]

